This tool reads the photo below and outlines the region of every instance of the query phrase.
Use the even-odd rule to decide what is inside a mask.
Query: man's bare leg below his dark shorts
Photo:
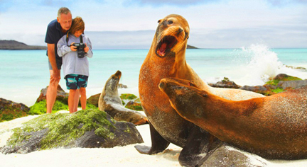
[[[47,113],[52,113],[52,108],[57,96],[58,84],[60,82],[60,79],[51,79],[51,76],[53,76],[53,70],[50,70],[50,83],[46,95]]]

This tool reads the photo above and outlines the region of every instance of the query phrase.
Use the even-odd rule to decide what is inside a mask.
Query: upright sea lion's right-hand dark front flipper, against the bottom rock
[[[181,166],[201,166],[222,142],[200,127],[191,129],[188,141],[179,156]]]

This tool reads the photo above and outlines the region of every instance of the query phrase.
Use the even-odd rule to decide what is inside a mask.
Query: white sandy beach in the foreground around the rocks
[[[62,111],[62,113],[68,111]],[[38,117],[38,115],[31,115],[28,117],[21,117],[9,122],[0,123],[0,147],[4,146],[6,140],[11,133],[8,129],[13,129],[21,125],[21,123]],[[141,125],[136,127],[144,139],[144,144],[151,145],[151,138],[149,132],[149,125]],[[112,149],[52,149],[45,151],[35,151],[29,154],[1,154],[0,162],[2,167],[95,167],[95,166],[180,166],[178,163],[178,156],[181,148],[171,144],[166,151],[156,155],[139,154],[134,149],[135,144],[128,146],[117,146]],[[277,166],[307,166],[307,160],[303,161],[266,161],[259,156],[253,156],[254,159],[259,159],[270,167]]]

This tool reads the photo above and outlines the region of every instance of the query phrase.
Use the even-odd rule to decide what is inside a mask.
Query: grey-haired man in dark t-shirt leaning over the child
[[[57,19],[48,24],[45,42],[47,43],[47,56],[49,60],[50,83],[47,89],[47,113],[51,113],[55,98],[57,96],[58,84],[60,82],[60,69],[62,57],[58,56],[58,40],[66,35],[72,24],[72,14],[68,8],[58,10]]]

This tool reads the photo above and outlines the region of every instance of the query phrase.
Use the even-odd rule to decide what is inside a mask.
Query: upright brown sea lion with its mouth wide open
[[[202,163],[203,157],[214,148],[217,140],[178,115],[168,97],[159,90],[160,80],[168,77],[188,79],[199,88],[235,100],[262,95],[212,88],[205,84],[185,61],[189,33],[188,21],[182,16],[172,14],[158,21],[154,40],[139,75],[139,95],[149,118],[152,144],[151,147],[136,146],[136,149],[142,154],[156,154],[166,149],[171,142],[183,147],[179,156],[181,165],[196,166]]]

